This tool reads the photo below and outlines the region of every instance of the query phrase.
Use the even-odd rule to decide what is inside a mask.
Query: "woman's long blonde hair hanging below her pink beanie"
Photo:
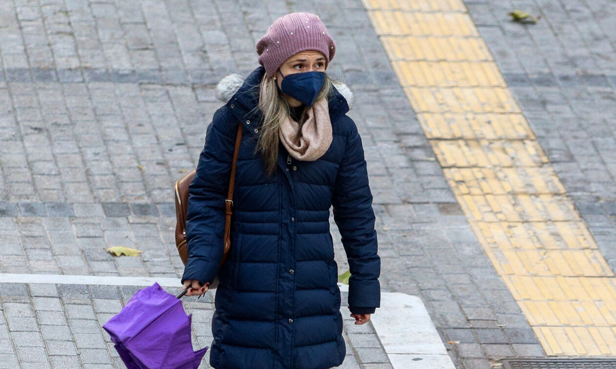
[[[321,92],[318,94],[315,101],[327,98],[333,90],[333,79],[325,74],[325,83]],[[280,119],[283,114],[291,116],[291,106],[285,100],[282,93],[278,90],[278,83],[272,77],[267,77],[267,73],[263,75],[260,89],[266,88],[267,95],[263,101],[259,100],[259,109],[263,114],[263,123],[259,130],[259,141],[257,142],[256,151],[261,153],[265,164],[265,175],[270,177],[275,171],[278,162],[278,131],[280,130]],[[299,117],[299,127],[306,119],[306,109]],[[299,132],[298,132],[299,136]],[[298,137],[299,138],[299,137]]]

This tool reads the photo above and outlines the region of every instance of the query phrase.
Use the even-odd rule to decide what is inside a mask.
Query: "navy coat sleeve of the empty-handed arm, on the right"
[[[332,204],[334,221],[351,269],[349,309],[355,314],[367,314],[380,306],[381,259],[376,253],[375,213],[362,139],[352,121],[351,126],[336,176]]]

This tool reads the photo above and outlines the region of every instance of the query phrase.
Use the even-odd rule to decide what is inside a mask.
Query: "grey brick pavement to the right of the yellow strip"
[[[616,4],[466,1],[567,194],[616,271]],[[541,15],[511,22],[511,9]]]

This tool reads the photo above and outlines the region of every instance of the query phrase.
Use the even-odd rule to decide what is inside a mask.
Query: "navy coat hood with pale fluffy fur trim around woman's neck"
[[[264,73],[265,68],[259,66],[246,78],[240,74],[229,74],[216,85],[216,98],[224,101],[232,114],[248,129],[254,129],[262,121],[262,113],[257,105],[259,83]],[[333,93],[328,97],[330,116],[334,118],[346,114],[353,101],[354,95],[346,84],[334,83]],[[247,125],[246,121],[254,123]]]

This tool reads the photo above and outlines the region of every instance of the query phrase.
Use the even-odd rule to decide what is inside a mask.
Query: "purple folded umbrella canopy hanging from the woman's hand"
[[[155,283],[135,293],[103,328],[128,369],[197,369],[208,347],[193,351],[191,316]]]

